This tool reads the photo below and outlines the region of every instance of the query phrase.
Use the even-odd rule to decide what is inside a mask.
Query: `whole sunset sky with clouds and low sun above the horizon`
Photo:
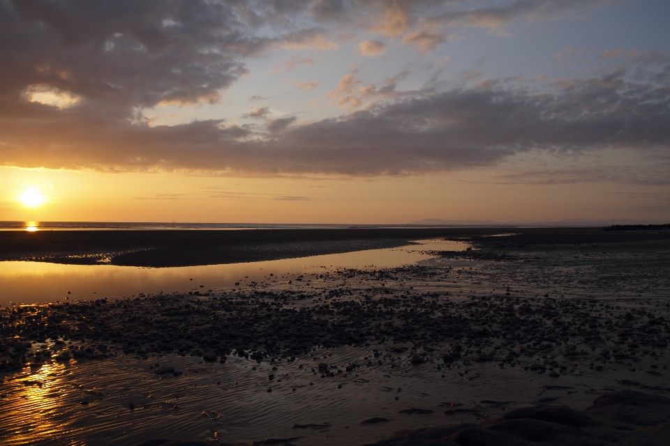
[[[0,220],[670,222],[667,0],[0,0]]]

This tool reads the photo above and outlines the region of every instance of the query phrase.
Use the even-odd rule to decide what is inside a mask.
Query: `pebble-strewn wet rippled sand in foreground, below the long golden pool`
[[[3,308],[0,441],[364,444],[606,392],[667,396],[667,233],[523,237],[401,268]],[[640,440],[667,422],[619,427]]]

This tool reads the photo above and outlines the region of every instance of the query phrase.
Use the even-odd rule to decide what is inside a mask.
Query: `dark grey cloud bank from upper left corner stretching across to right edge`
[[[327,15],[321,3],[0,0],[0,164],[370,176],[491,166],[536,150],[668,155],[662,55],[543,91],[496,79],[426,87],[365,111],[302,125],[285,116],[262,130],[214,120],[152,127],[140,113],[221,100],[248,72],[246,58],[326,32],[296,31],[290,14],[345,14]],[[286,29],[261,37],[258,26],[269,22]],[[650,64],[653,78],[630,81]],[[35,102],[36,92],[61,102]]]

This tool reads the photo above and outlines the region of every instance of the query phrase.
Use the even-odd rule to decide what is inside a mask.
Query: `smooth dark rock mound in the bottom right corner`
[[[399,431],[375,445],[665,446],[667,445],[665,423],[668,415],[670,415],[670,399],[624,390],[598,397],[593,406],[585,412],[567,406],[520,408],[479,425],[458,424]],[[657,427],[634,429],[621,422]]]

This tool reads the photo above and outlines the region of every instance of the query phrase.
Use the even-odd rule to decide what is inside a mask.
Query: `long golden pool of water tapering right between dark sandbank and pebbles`
[[[240,279],[242,285],[265,282],[271,272],[301,274],[322,272],[327,268],[394,268],[429,259],[430,250],[463,250],[466,243],[446,240],[419,240],[421,245],[402,248],[368,249],[366,251],[326,254],[253,263],[185,266],[179,268],[136,268],[112,265],[64,265],[46,262],[6,261],[0,269],[4,293],[0,305],[10,301],[37,303],[54,300],[96,299],[111,296],[131,297],[139,293],[187,293],[199,289],[227,288]],[[98,263],[105,263],[101,254]],[[289,287],[294,277],[271,277],[269,284]],[[246,282],[244,277],[248,276]],[[276,274],[275,274],[276,276]],[[193,279],[191,281],[190,279]],[[272,282],[276,281],[276,282]],[[197,283],[196,283],[197,282]],[[68,291],[71,292],[68,295]]]

